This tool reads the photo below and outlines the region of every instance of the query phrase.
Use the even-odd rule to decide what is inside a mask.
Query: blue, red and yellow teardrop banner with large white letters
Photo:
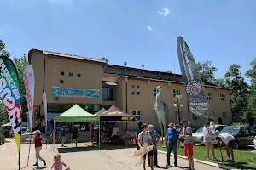
[[[8,111],[9,121],[14,130],[15,141],[19,153],[18,165],[20,169],[21,122],[22,122],[22,94],[18,71],[8,57],[0,57],[0,97]]]

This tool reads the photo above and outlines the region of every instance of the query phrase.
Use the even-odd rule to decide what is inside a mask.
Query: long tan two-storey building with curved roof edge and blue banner
[[[178,116],[196,125],[206,121],[206,118],[195,116],[188,110],[181,75],[108,65],[107,59],[91,59],[38,49],[30,50],[28,59],[36,78],[35,111],[39,111],[41,115],[44,115],[42,93],[45,91],[48,112],[51,113],[67,111],[73,104],[79,104],[92,113],[102,107],[108,109],[111,105],[116,105],[120,110],[136,115],[140,122],[158,126],[153,105],[156,87],[161,86],[163,100],[169,107],[169,122],[178,122]],[[79,89],[82,90],[78,91]],[[220,116],[224,124],[230,124],[230,89],[205,83],[205,90],[212,116]],[[74,92],[81,96],[72,97]],[[180,115],[177,114],[177,107],[173,106],[173,99],[177,94],[183,95]]]

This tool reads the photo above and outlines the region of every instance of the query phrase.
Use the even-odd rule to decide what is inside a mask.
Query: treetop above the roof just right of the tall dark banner
[[[215,66],[212,66],[212,61],[203,61],[195,64],[195,67],[198,69],[202,82],[212,82],[215,83],[214,72],[218,71]]]

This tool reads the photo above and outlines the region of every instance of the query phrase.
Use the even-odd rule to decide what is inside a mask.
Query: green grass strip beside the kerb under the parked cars
[[[158,150],[167,152],[167,149],[162,148],[161,144],[159,144]],[[184,156],[183,146],[181,147],[181,149],[177,150],[177,154]],[[221,161],[221,155],[219,150],[215,149],[215,155],[216,155],[216,158]],[[222,150],[222,155],[224,157],[224,161],[228,159],[225,150]],[[210,150],[210,156],[212,156],[211,150]],[[249,152],[249,151],[234,150],[234,156],[235,156],[236,163],[229,164],[224,162],[224,165],[227,165],[230,167],[236,167],[239,169],[256,169],[256,153]],[[199,159],[201,161],[207,161],[206,147],[194,146],[194,158]],[[219,161],[215,161],[215,163],[218,163],[218,162]]]

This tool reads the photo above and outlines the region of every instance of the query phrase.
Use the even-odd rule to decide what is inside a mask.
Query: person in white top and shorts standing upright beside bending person
[[[206,148],[207,148],[207,159],[208,159],[208,161],[212,161],[212,160],[213,160],[213,161],[217,161],[216,156],[215,156],[215,153],[214,153],[214,146],[213,146],[213,144],[212,144],[212,139],[211,139],[212,134],[215,134],[215,131],[214,131],[214,129],[215,129],[215,123],[212,122],[212,125],[213,125],[213,132],[210,132],[210,125],[211,125],[210,122],[205,122],[205,127],[203,128],[203,133],[204,133],[203,141],[204,141],[204,143],[205,143],[205,145],[206,145]],[[210,159],[210,156],[209,156],[209,155],[210,155],[210,154],[209,154],[210,148],[211,148],[211,150],[212,150],[212,157],[213,157],[212,160]]]

